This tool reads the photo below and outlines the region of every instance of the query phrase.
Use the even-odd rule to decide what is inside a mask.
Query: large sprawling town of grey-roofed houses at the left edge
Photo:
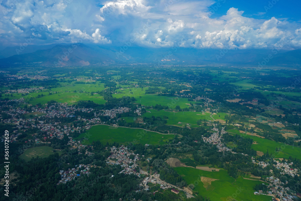
[[[25,104],[24,99],[14,99],[9,101],[2,101],[3,104],[0,106],[0,109],[3,107],[7,107],[11,104],[11,102],[16,102],[17,105]],[[94,116],[102,115],[102,116],[109,116],[110,118],[116,117],[116,114],[122,114],[124,112],[129,112],[130,109],[127,107],[123,108],[116,108],[112,110],[100,110],[99,113],[96,114],[96,111],[91,108],[77,108],[74,106],[68,106],[66,103],[52,103],[51,105],[47,105],[44,108],[40,108],[38,106],[33,106],[31,108],[31,112],[35,114],[34,112],[39,112],[39,114],[45,116],[48,120],[54,119],[54,118],[71,118],[75,117],[73,114],[75,111],[79,112],[93,112]],[[136,110],[138,115],[141,115],[141,109],[139,108]],[[29,117],[27,119],[21,119],[20,115],[26,115],[29,114],[28,111],[26,111],[23,108],[13,108],[9,111],[2,111],[6,113],[7,115],[10,115],[11,118],[3,119],[4,123],[14,123],[17,124],[17,128],[19,130],[14,130],[14,134],[11,135],[11,142],[16,141],[16,137],[20,134],[20,131],[26,131],[29,128],[39,128],[41,131],[45,131],[46,135],[43,135],[42,138],[37,138],[36,134],[33,134],[34,140],[36,143],[40,142],[47,142],[47,139],[51,139],[54,137],[57,137],[59,139],[63,139],[64,135],[69,136],[70,133],[73,133],[75,131],[80,130],[88,130],[91,128],[94,124],[104,124],[105,122],[101,122],[101,119],[96,118],[77,118],[76,120],[81,120],[85,122],[85,126],[82,127],[74,127],[74,125],[61,125],[60,121],[54,122],[54,124],[50,123],[49,121],[38,121],[38,123],[32,124],[31,122],[34,122],[37,115],[33,115],[32,117]]]

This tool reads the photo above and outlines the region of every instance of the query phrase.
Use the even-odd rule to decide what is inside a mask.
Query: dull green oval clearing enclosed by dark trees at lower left
[[[56,150],[57,153],[61,153],[61,151]],[[53,154],[53,148],[50,146],[37,146],[26,149],[22,155],[20,155],[20,159],[24,159],[25,161],[30,161],[31,158],[39,156],[39,158],[46,158],[49,155]]]

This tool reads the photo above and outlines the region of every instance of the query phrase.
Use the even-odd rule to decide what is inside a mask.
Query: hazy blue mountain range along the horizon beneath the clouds
[[[301,50],[269,49],[192,49],[113,47],[95,44],[29,45],[0,51],[0,65],[70,66],[95,64],[229,64],[263,66],[300,66]]]

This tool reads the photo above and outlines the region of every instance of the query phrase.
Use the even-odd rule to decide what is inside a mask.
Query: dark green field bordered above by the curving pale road
[[[95,125],[86,133],[82,133],[77,138],[85,138],[82,144],[91,144],[93,141],[100,140],[102,143],[142,143],[152,145],[162,145],[169,143],[175,136],[173,134],[163,135],[160,133],[146,131],[143,129],[111,127],[107,125]]]

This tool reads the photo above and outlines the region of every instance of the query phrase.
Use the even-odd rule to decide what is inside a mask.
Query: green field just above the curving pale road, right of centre
[[[151,116],[161,116],[164,115],[168,117],[167,125],[173,125],[178,124],[178,122],[184,122],[189,124],[197,124],[198,120],[204,121],[213,121],[213,119],[210,117],[210,113],[205,112],[204,114],[202,112],[192,112],[192,111],[185,111],[185,112],[168,112],[165,110],[157,111],[155,109],[149,109],[151,112],[146,112],[143,114],[145,117],[151,117]],[[221,116],[222,117],[222,116]],[[180,124],[178,124],[180,125]]]

